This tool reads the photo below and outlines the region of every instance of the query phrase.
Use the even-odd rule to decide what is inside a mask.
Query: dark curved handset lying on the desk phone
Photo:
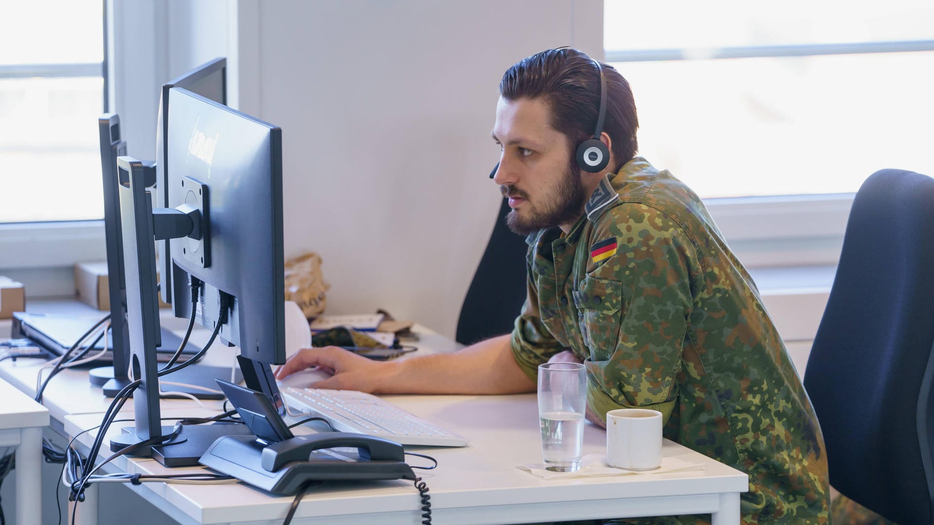
[[[356,447],[361,460],[405,461],[403,447],[398,443],[360,433],[312,433],[297,435],[262,448],[262,468],[276,472],[290,461],[308,461],[315,450],[334,447]]]

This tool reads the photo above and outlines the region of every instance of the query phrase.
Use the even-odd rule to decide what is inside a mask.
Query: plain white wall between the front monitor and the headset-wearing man
[[[383,307],[453,335],[500,205],[502,73],[558,46],[600,57],[602,2],[233,8],[239,106],[283,130],[286,257],[321,254],[329,313]]]

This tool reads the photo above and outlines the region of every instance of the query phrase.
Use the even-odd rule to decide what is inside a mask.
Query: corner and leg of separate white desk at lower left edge
[[[42,522],[42,429],[49,410],[0,380],[0,447],[16,447],[16,523]]]

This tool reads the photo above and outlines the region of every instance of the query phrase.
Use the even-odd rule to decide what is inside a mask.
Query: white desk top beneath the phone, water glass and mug
[[[701,472],[662,475],[539,479],[517,469],[518,463],[541,461],[538,405],[534,394],[503,396],[388,396],[388,401],[417,416],[432,419],[471,440],[468,447],[406,447],[438,460],[432,471],[416,471],[431,490],[432,517],[437,523],[528,523],[560,519],[611,518],[658,513],[714,512],[719,493],[747,490],[747,476],[686,447],[665,442],[663,454],[702,462]],[[163,410],[164,417],[205,415],[202,410]],[[65,418],[74,435],[100,423],[100,415]],[[114,425],[110,433],[117,433]],[[92,442],[86,433],[79,441]],[[109,433],[108,433],[109,435]],[[587,425],[584,454],[605,453],[605,432]],[[409,457],[410,464],[428,461]],[[192,469],[165,469],[152,460],[114,461],[123,472],[164,474]],[[272,496],[244,484],[223,486],[164,485],[133,487],[181,523],[281,523],[292,497]],[[625,495],[625,498],[621,499]],[[653,506],[644,506],[648,500]],[[311,490],[299,505],[301,523],[353,523],[366,516],[378,523],[417,523],[419,499],[411,481],[326,484]],[[80,509],[78,509],[80,512]],[[102,510],[103,512],[103,510]],[[376,513],[371,514],[371,513]]]

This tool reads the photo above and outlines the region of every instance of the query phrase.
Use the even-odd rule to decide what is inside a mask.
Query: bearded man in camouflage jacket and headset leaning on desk
[[[601,74],[595,138],[609,163],[590,173],[576,151],[599,120]],[[506,71],[500,95],[494,179],[513,208],[510,228],[529,244],[513,333],[401,362],[305,349],[278,376],[319,365],[334,376],[318,388],[528,392],[539,364],[574,359],[587,365],[591,420],[656,409],[666,437],[749,474],[745,523],[827,523],[827,460],[800,378],[701,199],[635,156],[627,81],[580,51],[546,50]]]

